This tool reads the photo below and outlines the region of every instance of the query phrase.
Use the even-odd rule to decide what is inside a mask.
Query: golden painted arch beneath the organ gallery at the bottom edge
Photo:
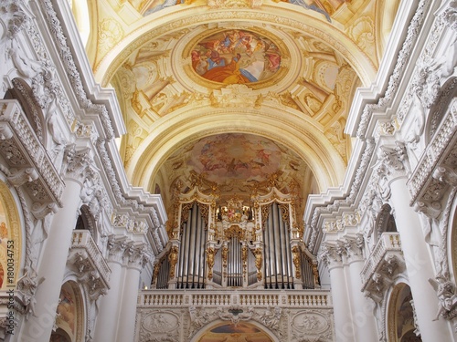
[[[234,331],[235,329],[239,329],[239,331]],[[243,330],[245,332],[243,332]],[[250,331],[250,332],[249,332]],[[263,337],[263,339],[252,339],[253,341],[259,342],[267,342],[265,337],[270,338],[268,342],[280,342],[280,340],[271,332],[270,329],[261,325],[260,323],[250,320],[250,321],[241,321],[237,325],[233,324],[232,322],[223,321],[218,319],[207,326],[203,326],[197,334],[190,340],[190,342],[207,342],[210,339],[206,339],[209,335],[218,336],[220,337],[229,337],[230,334],[249,334],[252,338],[254,334],[258,334],[259,337]],[[232,339],[228,339],[231,341]],[[235,339],[233,339],[235,341]]]

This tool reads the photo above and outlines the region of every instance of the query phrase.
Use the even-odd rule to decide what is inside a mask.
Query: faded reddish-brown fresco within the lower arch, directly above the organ
[[[161,189],[164,184],[174,186],[179,181],[181,190],[191,188],[200,177],[205,181],[201,190],[210,192],[215,185],[223,201],[233,195],[249,201],[254,189],[261,193],[272,185],[282,192],[309,192],[313,178],[294,151],[273,140],[244,133],[223,133],[193,141],[176,150],[159,175],[163,180]]]

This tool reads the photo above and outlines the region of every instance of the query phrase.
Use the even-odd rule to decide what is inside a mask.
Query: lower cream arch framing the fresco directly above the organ
[[[311,119],[277,109],[177,110],[156,121],[156,129],[135,150],[126,166],[127,177],[135,186],[154,192],[154,178],[165,160],[187,143],[219,133],[259,135],[293,150],[313,171],[319,189],[343,181],[345,161]],[[183,119],[186,118],[186,119]]]

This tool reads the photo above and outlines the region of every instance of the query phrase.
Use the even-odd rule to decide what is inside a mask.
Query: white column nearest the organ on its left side
[[[146,261],[151,260],[143,245],[131,246],[126,251],[128,265],[124,272],[121,313],[118,321],[117,339],[112,341],[133,341],[135,331],[136,303],[138,298],[140,272]]]

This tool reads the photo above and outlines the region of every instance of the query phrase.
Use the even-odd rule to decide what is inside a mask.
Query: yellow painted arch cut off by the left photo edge
[[[16,284],[19,279],[25,264],[26,255],[23,251],[26,248],[23,245],[25,232],[18,204],[2,178],[0,177],[0,266],[5,276],[1,288],[5,288],[6,285]]]

